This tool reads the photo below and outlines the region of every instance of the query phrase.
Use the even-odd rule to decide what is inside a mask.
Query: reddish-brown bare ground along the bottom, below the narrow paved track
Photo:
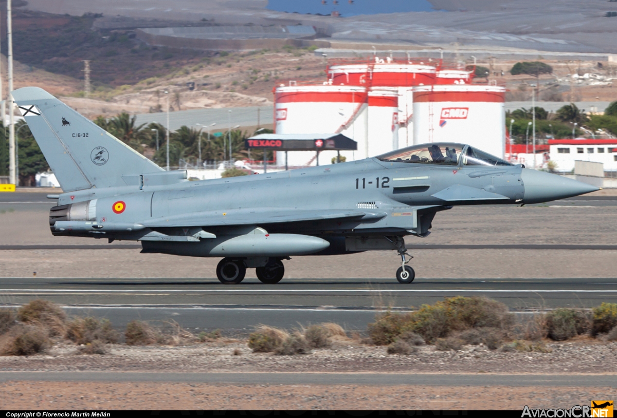
[[[523,409],[571,408],[614,399],[611,388],[218,383],[0,383],[2,409]]]

